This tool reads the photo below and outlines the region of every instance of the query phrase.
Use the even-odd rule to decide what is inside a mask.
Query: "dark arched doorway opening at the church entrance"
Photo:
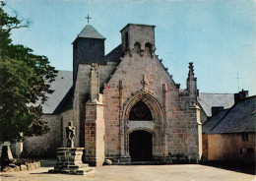
[[[152,134],[134,131],[129,135],[129,151],[132,161],[152,160]]]

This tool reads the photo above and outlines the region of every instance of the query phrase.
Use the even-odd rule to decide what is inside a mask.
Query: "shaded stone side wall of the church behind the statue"
[[[34,157],[55,157],[56,149],[61,147],[61,126],[59,115],[43,115],[50,131],[38,137],[27,137],[24,141],[25,155]]]

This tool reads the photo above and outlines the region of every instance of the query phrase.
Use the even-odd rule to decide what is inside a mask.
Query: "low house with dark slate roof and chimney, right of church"
[[[208,160],[255,163],[256,96],[234,95],[235,103],[203,125],[203,156]]]

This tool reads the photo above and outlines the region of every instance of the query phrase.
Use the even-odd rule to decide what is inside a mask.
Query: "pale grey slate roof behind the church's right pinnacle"
[[[197,100],[208,117],[212,116],[213,106],[224,106],[229,108],[234,103],[234,95],[232,93],[199,93]]]

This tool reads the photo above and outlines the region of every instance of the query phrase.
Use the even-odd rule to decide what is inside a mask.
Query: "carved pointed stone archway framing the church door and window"
[[[133,106],[143,101],[151,110],[153,121],[129,121],[129,114]],[[153,156],[165,154],[164,140],[165,115],[159,100],[149,91],[140,91],[124,102],[121,120],[121,155],[130,156],[129,134],[134,131],[146,131],[153,135]]]

